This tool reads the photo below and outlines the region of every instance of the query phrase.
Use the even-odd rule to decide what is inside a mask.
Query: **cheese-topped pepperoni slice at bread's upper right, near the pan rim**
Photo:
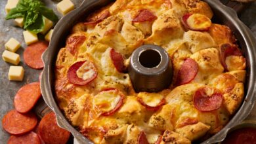
[[[207,31],[211,27],[211,20],[203,14],[185,14],[182,22],[186,28],[194,31]]]

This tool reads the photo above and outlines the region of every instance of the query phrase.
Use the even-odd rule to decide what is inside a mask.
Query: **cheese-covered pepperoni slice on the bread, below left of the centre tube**
[[[108,88],[93,98],[93,105],[98,107],[103,116],[114,115],[123,105],[124,95],[116,88]]]

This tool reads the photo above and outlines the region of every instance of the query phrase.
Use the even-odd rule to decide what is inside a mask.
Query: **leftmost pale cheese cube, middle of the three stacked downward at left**
[[[18,65],[18,63],[20,63],[20,55],[14,53],[14,52],[9,52],[8,50],[5,50],[3,52],[2,57],[5,62],[9,62],[14,65]]]

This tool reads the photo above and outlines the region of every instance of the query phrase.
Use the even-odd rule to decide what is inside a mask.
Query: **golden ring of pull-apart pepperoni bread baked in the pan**
[[[76,24],[55,65],[56,99],[94,143],[191,143],[219,132],[244,98],[246,60],[229,27],[199,0],[117,0]],[[161,92],[135,92],[139,46],[173,64]]]

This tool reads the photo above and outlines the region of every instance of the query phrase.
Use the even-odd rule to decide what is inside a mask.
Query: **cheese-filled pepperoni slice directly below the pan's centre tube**
[[[155,93],[140,93],[137,97],[137,100],[140,102],[141,105],[146,107],[146,109],[150,111],[156,111],[160,109],[162,105],[165,104],[165,99],[161,94]]]

